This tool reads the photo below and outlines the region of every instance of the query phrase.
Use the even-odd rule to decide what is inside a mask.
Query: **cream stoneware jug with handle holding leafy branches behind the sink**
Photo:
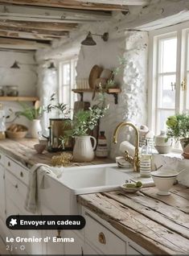
[[[91,138],[94,141],[92,147]],[[73,159],[76,162],[90,162],[94,159],[94,150],[97,146],[97,139],[92,136],[76,136],[73,147]]]

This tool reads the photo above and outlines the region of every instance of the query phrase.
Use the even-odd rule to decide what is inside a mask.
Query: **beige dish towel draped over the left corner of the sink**
[[[40,188],[47,188],[47,185],[44,184],[44,176],[46,174],[51,175],[52,177],[59,178],[62,175],[62,168],[49,167],[47,164],[37,163],[31,167],[29,174],[29,185],[27,187],[27,198],[25,201],[25,209],[27,212],[35,213],[37,209],[37,200],[38,200],[38,172],[40,176]]]

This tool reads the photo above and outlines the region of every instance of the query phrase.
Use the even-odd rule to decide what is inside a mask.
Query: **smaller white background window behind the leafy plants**
[[[72,89],[76,88],[76,59],[60,62],[60,89],[59,101],[68,104],[73,109],[76,101],[76,93]]]

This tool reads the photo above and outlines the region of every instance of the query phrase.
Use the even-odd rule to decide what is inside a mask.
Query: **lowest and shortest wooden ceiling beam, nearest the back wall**
[[[1,31],[0,30],[0,37],[7,37],[7,38],[14,38],[14,39],[35,39],[35,40],[47,40],[51,41],[53,39],[60,39],[60,37],[53,37],[49,35],[37,35],[37,34],[30,34],[24,32],[15,32],[15,31]]]

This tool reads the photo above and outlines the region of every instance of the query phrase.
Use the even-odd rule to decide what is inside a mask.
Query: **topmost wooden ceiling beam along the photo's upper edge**
[[[109,1],[110,2],[110,1]],[[79,9],[79,10],[128,10],[128,6],[121,4],[104,4],[76,1],[76,0],[4,0],[0,3],[11,3],[17,5],[28,5],[28,6],[50,6],[68,9]]]

